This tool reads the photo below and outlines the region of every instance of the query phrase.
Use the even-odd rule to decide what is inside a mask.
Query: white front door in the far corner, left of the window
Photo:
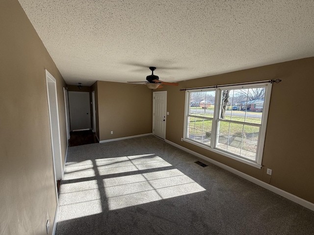
[[[167,92],[153,92],[153,134],[166,138]]]

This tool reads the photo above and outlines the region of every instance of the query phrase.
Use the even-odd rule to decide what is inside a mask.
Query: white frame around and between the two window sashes
[[[257,87],[265,87],[265,94],[264,94],[264,103],[263,103],[263,112],[262,112],[262,120],[261,120],[261,129],[259,133],[259,139],[258,139],[258,146],[257,146],[257,152],[256,152],[256,160],[249,160],[242,157],[239,157],[235,154],[232,154],[230,152],[226,152],[223,150],[220,150],[216,148],[216,142],[217,142],[217,121],[219,120],[219,114],[220,114],[220,101],[221,101],[221,91],[222,90],[236,90],[236,89],[249,89],[249,88],[257,88]],[[237,160],[241,163],[249,164],[251,166],[262,168],[262,155],[263,155],[263,149],[264,149],[264,142],[265,142],[265,134],[266,134],[266,126],[267,126],[267,118],[268,118],[268,110],[269,110],[269,103],[270,103],[270,95],[271,95],[271,88],[272,83],[269,83],[268,81],[261,81],[259,84],[256,85],[250,85],[250,84],[242,84],[242,85],[225,85],[220,86],[219,88],[214,89],[193,89],[193,90],[186,90],[185,91],[185,107],[184,107],[184,130],[183,130],[183,141],[192,143],[196,146],[205,148],[209,151],[218,153],[220,155],[223,155],[225,157]],[[210,139],[210,146],[198,141],[193,141],[191,139],[187,138],[187,128],[188,128],[188,116],[189,116],[189,109],[190,109],[190,92],[207,92],[207,91],[215,91],[215,108],[214,108],[214,116],[212,119],[212,128],[211,128],[211,139]]]

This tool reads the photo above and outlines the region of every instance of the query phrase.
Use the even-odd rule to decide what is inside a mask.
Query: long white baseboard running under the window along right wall
[[[269,185],[269,184],[267,184],[267,183],[265,183],[265,182],[263,182],[261,180],[258,180],[256,178],[250,176],[250,175],[247,175],[247,174],[245,174],[245,173],[243,173],[241,171],[238,171],[238,170],[236,170],[236,169],[234,169],[234,168],[232,168],[232,167],[230,167],[228,165],[225,165],[225,164],[219,163],[219,162],[217,162],[215,160],[212,160],[212,159],[210,159],[210,158],[208,158],[208,157],[206,157],[206,156],[204,156],[202,154],[194,152],[194,151],[192,151],[192,150],[190,150],[188,148],[185,148],[185,147],[183,147],[183,146],[181,146],[179,144],[176,144],[176,143],[168,141],[168,140],[165,140],[165,142],[167,142],[167,143],[169,143],[169,144],[171,144],[171,145],[173,145],[173,146],[175,146],[177,148],[180,148],[183,151],[188,152],[188,153],[190,153],[190,154],[192,154],[192,155],[194,155],[196,157],[199,157],[199,158],[201,158],[201,159],[203,159],[203,160],[205,160],[205,161],[207,161],[207,162],[209,162],[211,164],[217,165],[217,166],[219,166],[219,167],[221,167],[221,168],[223,168],[225,170],[228,170],[228,171],[230,171],[230,172],[232,172],[232,173],[234,173],[234,174],[236,174],[236,175],[238,175],[238,176],[240,176],[240,177],[242,177],[242,178],[244,178],[244,179],[246,179],[248,181],[251,181],[254,184],[257,184],[257,185],[259,185],[259,186],[261,186],[263,188],[268,189],[269,191],[277,193],[278,195],[280,195],[282,197],[285,197],[285,198],[287,198],[288,200],[290,200],[292,202],[295,202],[295,203],[297,203],[297,204],[299,204],[299,205],[301,205],[303,207],[306,207],[306,208],[314,211],[314,204],[309,202],[309,201],[306,201],[306,200],[304,200],[304,199],[302,199],[300,197],[297,197],[297,196],[295,196],[295,195],[293,195],[293,194],[291,194],[291,193],[289,193],[287,191],[284,191],[284,190],[282,190],[280,188],[276,188],[276,187],[274,187],[272,185]]]

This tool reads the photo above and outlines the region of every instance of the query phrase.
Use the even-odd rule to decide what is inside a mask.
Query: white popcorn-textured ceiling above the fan
[[[67,84],[176,82],[314,56],[314,0],[19,0]]]

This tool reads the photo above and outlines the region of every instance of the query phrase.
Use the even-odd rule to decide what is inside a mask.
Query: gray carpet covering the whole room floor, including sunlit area
[[[56,235],[313,235],[314,211],[154,136],[70,147]]]

